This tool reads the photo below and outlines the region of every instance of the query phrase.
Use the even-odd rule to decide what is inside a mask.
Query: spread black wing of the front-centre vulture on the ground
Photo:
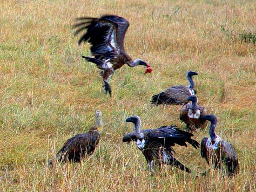
[[[176,126],[163,126],[157,129],[151,129],[147,136],[161,142],[165,147],[171,147],[175,144],[186,146],[186,142],[190,143],[194,148],[200,146],[199,142],[191,139],[192,133],[188,133],[178,129]]]

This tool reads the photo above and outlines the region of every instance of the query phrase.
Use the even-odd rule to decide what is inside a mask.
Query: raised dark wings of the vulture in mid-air
[[[95,58],[109,59],[116,57],[120,50],[124,50],[124,37],[129,27],[129,22],[123,17],[105,15],[101,18],[81,17],[75,35],[87,30],[80,38],[78,44],[89,42],[91,53]]]

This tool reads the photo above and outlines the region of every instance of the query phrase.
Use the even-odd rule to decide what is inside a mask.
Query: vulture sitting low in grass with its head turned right
[[[188,71],[186,77],[188,82],[190,83],[189,86],[177,85],[167,88],[167,90],[159,94],[153,95],[150,101],[151,104],[184,104],[187,101],[187,97],[196,94],[196,90],[194,90],[194,81],[192,79],[192,76],[197,75],[197,72]]]

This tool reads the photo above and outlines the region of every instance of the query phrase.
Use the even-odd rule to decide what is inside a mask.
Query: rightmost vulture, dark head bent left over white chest
[[[201,119],[211,122],[210,138],[203,138],[201,141],[201,157],[213,168],[223,170],[224,174],[233,176],[238,172],[238,155],[235,148],[228,142],[215,135],[215,127],[218,124],[217,116],[208,114],[201,116]]]

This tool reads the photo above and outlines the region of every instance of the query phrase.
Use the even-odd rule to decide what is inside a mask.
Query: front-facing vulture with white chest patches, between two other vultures
[[[200,119],[200,116],[206,115],[206,109],[203,106],[197,105],[198,99],[196,95],[191,95],[187,98],[187,101],[180,109],[179,119],[185,122],[189,131],[204,128],[206,120]],[[190,104],[189,101],[192,103]]]

